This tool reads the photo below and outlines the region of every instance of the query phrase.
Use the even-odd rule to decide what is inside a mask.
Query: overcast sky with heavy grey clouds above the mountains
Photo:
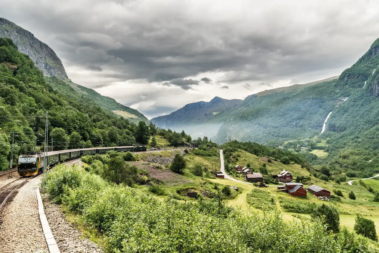
[[[307,2],[307,3],[305,3]],[[72,81],[149,119],[339,75],[379,37],[377,1],[0,0]]]

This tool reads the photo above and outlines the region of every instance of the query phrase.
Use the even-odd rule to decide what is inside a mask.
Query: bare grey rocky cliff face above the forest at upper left
[[[0,17],[0,37],[12,39],[21,53],[27,54],[45,75],[66,79],[61,60],[45,43],[15,23]]]

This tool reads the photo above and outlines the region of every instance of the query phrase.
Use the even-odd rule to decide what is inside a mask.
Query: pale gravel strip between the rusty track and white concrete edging
[[[42,175],[39,175],[22,186],[3,212],[4,220],[0,225],[0,252],[49,252],[38,215],[36,189],[41,177]]]

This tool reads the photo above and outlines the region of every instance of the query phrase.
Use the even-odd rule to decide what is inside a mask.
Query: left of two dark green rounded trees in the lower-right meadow
[[[327,224],[327,230],[338,233],[340,231],[340,215],[338,210],[332,205],[319,205],[310,214],[313,219],[319,218]]]

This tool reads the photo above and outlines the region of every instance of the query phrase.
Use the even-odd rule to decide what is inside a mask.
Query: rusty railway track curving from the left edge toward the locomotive
[[[0,188],[0,224],[3,222],[3,209],[13,201],[14,197],[16,197],[18,193],[18,189],[27,183],[31,178],[34,178],[39,174],[41,173],[38,173],[29,178],[17,178],[16,180],[13,180],[12,182]]]

